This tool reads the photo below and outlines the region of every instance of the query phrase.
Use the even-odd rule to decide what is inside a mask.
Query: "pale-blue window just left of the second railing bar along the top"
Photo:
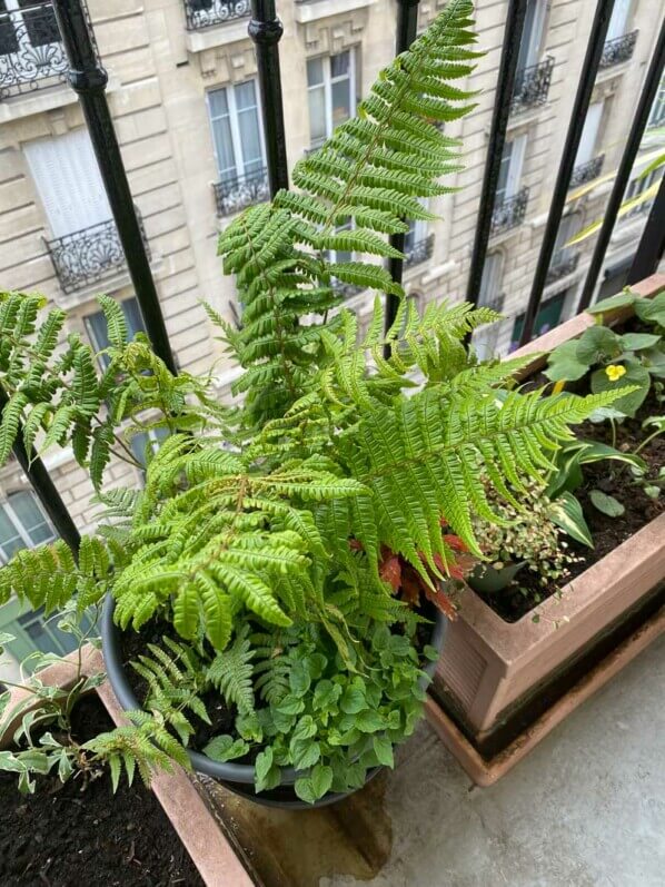
[[[214,89],[207,97],[220,181],[260,173],[266,160],[255,81]]]

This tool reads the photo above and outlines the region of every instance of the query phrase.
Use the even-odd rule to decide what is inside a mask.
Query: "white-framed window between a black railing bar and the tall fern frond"
[[[310,146],[318,148],[356,112],[356,58],[353,49],[307,60]]]

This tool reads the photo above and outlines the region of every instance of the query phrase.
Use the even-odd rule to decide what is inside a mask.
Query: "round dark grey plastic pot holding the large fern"
[[[103,659],[106,664],[107,674],[118,702],[126,711],[136,711],[141,708],[140,702],[135,696],[133,690],[127,679],[125,663],[122,662],[122,632],[113,622],[113,611],[116,602],[111,595],[107,597],[103,605],[101,617],[101,642]],[[434,610],[434,608],[433,608]],[[438,610],[433,613],[434,625],[431,631],[430,645],[434,647],[439,653],[444,647],[447,620]],[[436,669],[436,662],[428,662],[424,667],[424,671],[431,678]],[[421,679],[421,687],[426,686],[426,679]],[[214,761],[200,751],[188,750],[189,760],[192,768],[205,776],[210,776],[217,779],[230,791],[236,795],[241,795],[256,804],[261,804],[268,807],[282,807],[290,810],[310,810],[315,807],[327,807],[330,804],[336,804],[343,798],[353,795],[353,791],[344,794],[329,792],[320,798],[315,804],[306,804],[295,792],[294,782],[298,773],[292,767],[284,767],[281,770],[281,785],[271,791],[261,791],[257,794],[254,788],[255,769],[250,763],[234,763],[227,761]],[[373,779],[381,767],[375,767],[367,773],[366,783]]]

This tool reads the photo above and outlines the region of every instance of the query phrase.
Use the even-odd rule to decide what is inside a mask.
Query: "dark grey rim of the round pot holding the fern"
[[[102,642],[102,651],[103,651],[103,660],[106,664],[107,674],[113,692],[120,702],[121,707],[125,711],[140,711],[142,706],[139,703],[138,699],[133,690],[131,689],[127,676],[125,673],[125,667],[122,664],[122,656],[120,651],[120,639],[122,637],[122,632],[113,622],[113,612],[116,610],[116,601],[112,594],[107,594],[106,600],[103,602],[102,613],[101,613],[101,642]],[[434,647],[438,653],[441,652],[444,647],[444,641],[446,638],[446,629],[448,624],[448,620],[445,615],[438,610],[435,610],[435,619],[433,624],[433,632],[431,638],[429,640],[429,645]],[[428,662],[426,666],[423,667],[423,671],[426,672],[427,677],[423,677],[418,681],[418,687],[420,689],[426,689],[427,684],[429,683],[428,678],[434,677],[434,672],[436,670],[437,660],[433,662]],[[200,751],[193,751],[192,749],[187,749],[187,753],[189,756],[189,760],[193,769],[199,772],[204,773],[205,776],[210,776],[215,779],[221,779],[224,781],[229,782],[240,782],[242,785],[254,785],[255,781],[255,766],[252,763],[234,763],[232,761],[215,761],[209,758],[207,755],[204,755]],[[302,770],[296,770],[294,767],[282,767],[281,768],[281,785],[289,786],[294,785],[296,779],[298,778],[299,773],[304,772]]]

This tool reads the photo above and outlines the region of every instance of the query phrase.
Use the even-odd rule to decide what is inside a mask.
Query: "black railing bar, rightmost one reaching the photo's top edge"
[[[573,110],[570,112],[570,122],[568,124],[566,141],[564,142],[562,159],[554,185],[552,203],[549,205],[549,214],[547,216],[547,223],[543,234],[543,243],[540,245],[540,252],[536,263],[532,292],[529,294],[529,299],[524,315],[524,326],[519,337],[520,345],[530,342],[534,334],[534,323],[538,313],[540,299],[543,298],[543,289],[545,288],[547,272],[552,262],[552,254],[554,253],[556,243],[556,236],[562,221],[564,208],[566,206],[566,197],[570,185],[570,178],[573,176],[575,158],[577,156],[579,142],[582,141],[584,122],[586,120],[588,106],[594,91],[598,63],[601,61],[601,56],[603,55],[603,47],[605,46],[605,38],[607,36],[607,28],[609,27],[613,7],[614,0],[598,0],[596,11],[594,13],[589,41],[586,47],[579,82],[575,93],[575,101],[573,102]]]

